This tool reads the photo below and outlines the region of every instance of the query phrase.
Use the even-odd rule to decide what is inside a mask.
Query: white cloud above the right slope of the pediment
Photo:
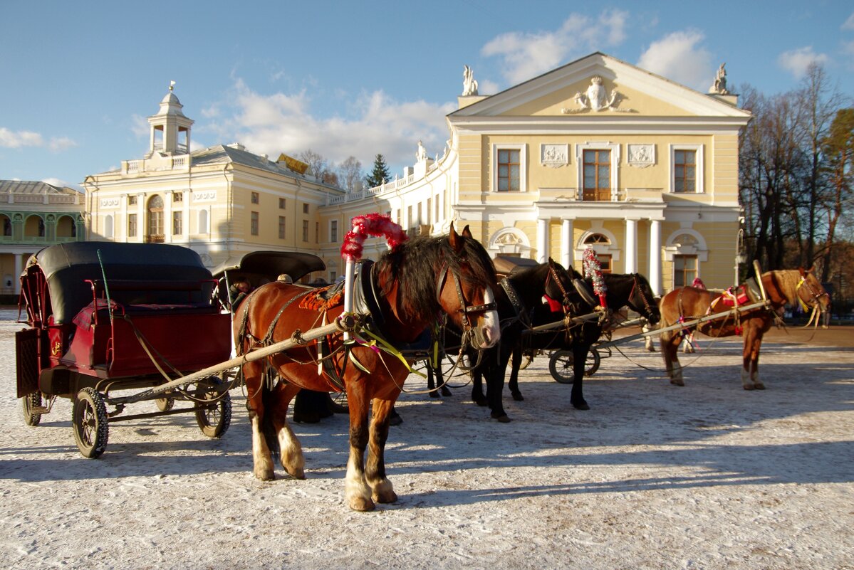
[[[640,55],[638,67],[692,89],[705,91],[715,79],[711,54],[702,46],[701,32],[673,32],[650,44]]]

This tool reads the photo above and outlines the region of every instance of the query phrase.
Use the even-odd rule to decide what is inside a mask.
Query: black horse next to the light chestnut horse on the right
[[[570,268],[571,269],[571,268]],[[576,270],[571,269],[572,278],[581,277]],[[646,277],[640,273],[628,274],[603,274],[605,280],[605,300],[612,310],[619,310],[629,306],[633,311],[646,318],[652,324],[658,323],[661,314],[658,312],[658,304],[655,302],[652,288]],[[580,313],[585,314],[594,310],[596,301],[588,297],[588,303],[580,307]],[[576,308],[576,310],[578,310]],[[500,313],[499,313],[500,315]],[[534,326],[554,323],[563,318],[562,315],[538,308],[535,311],[532,323]],[[589,410],[590,406],[584,399],[582,393],[582,380],[584,378],[584,367],[587,361],[590,347],[600,339],[605,330],[604,321],[588,321],[576,324],[568,328],[552,329],[542,333],[533,331],[523,335],[523,342],[518,343],[512,354],[512,369],[508,386],[514,399],[521,400],[522,393],[518,389],[519,368],[522,364],[522,353],[524,350],[571,350],[572,351],[572,392],[570,393],[570,404],[577,410]],[[555,332],[557,331],[557,332]],[[503,344],[503,342],[502,342]]]

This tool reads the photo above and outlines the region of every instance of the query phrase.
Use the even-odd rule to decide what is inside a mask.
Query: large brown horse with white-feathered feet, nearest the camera
[[[301,445],[287,422],[288,405],[296,393],[301,388],[346,391],[350,455],[345,498],[351,509],[365,511],[374,509],[375,501],[393,503],[397,499],[386,478],[383,452],[389,435],[389,413],[410,369],[401,360],[401,353],[389,346],[417,340],[442,312],[465,330],[465,338],[476,349],[493,346],[499,340],[500,327],[494,305],[494,267],[468,227],[462,234],[457,234],[452,225],[448,236],[403,241],[383,253],[370,268],[363,264],[361,275],[362,292],[373,300],[373,307],[368,301],[369,312],[360,317],[365,326],[354,333],[353,340],[346,340],[342,333],[330,334],[320,346],[318,341],[310,341],[243,364],[243,376],[252,426],[254,475],[260,480],[274,478],[271,448],[280,452],[288,474],[305,478]],[[343,311],[336,302],[341,295],[326,300],[321,291],[285,282],[256,289],[243,301],[235,318],[238,352],[335,322]],[[275,375],[266,374],[268,366],[284,381],[271,386],[265,379]]]

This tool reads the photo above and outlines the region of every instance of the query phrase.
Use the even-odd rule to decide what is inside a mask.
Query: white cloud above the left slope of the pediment
[[[491,39],[481,49],[486,56],[503,58],[504,77],[518,84],[566,63],[571,55],[604,51],[622,44],[626,38],[629,13],[605,10],[597,20],[570,14],[553,32],[509,32]]]

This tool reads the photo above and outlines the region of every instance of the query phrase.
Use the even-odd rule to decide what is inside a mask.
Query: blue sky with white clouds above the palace
[[[588,6],[595,5],[595,8]],[[17,2],[0,0],[0,179],[77,186],[142,158],[169,82],[192,143],[313,149],[392,175],[441,153],[463,66],[481,95],[601,51],[705,91],[854,96],[854,4],[791,2]]]

